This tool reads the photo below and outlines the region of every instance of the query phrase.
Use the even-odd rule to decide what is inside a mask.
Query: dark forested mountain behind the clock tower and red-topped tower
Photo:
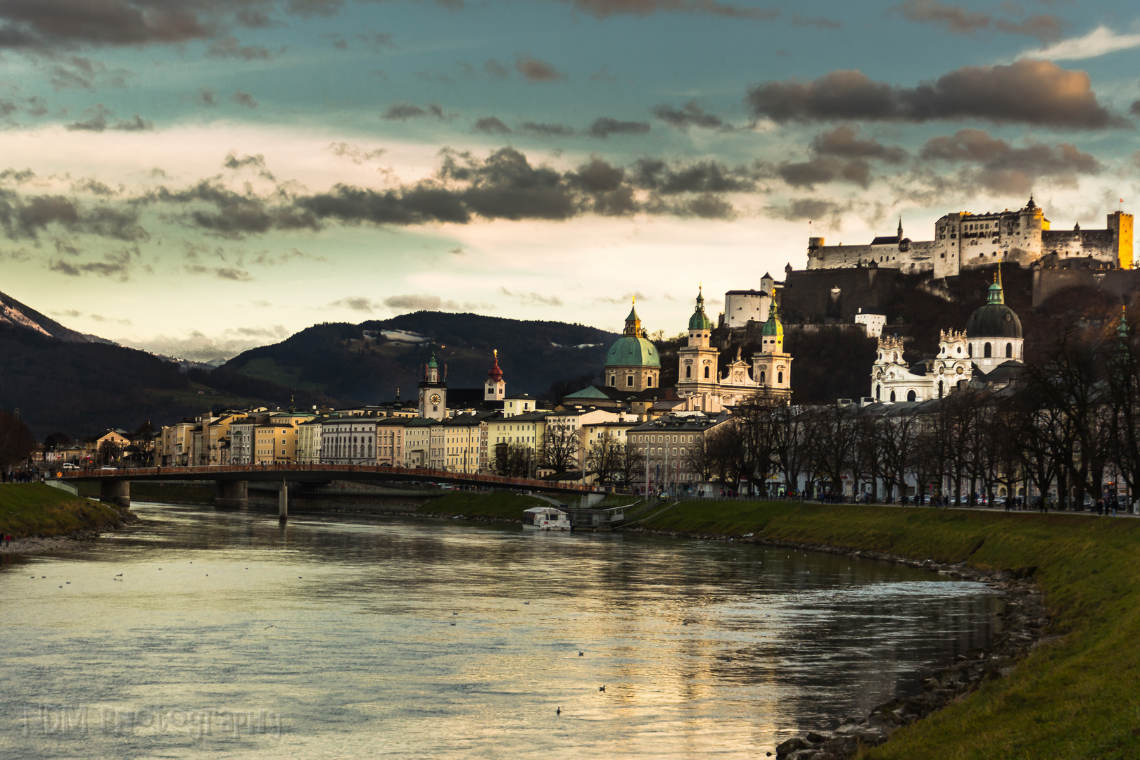
[[[577,378],[580,387],[585,376],[600,376],[617,338],[585,325],[417,311],[359,325],[314,325],[234,357],[210,377],[242,375],[363,403],[390,401],[397,391],[414,400],[432,346],[451,387],[481,387],[497,349],[507,393],[539,395],[555,383]]]

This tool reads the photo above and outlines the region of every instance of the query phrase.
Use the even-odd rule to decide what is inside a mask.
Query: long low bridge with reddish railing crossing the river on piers
[[[510,491],[600,497],[602,490],[577,483],[554,483],[522,477],[502,477],[475,473],[453,473],[425,467],[391,467],[388,465],[214,465],[209,467],[131,467],[125,469],[59,469],[59,480],[97,481],[99,500],[122,507],[131,506],[131,481],[206,481],[217,484],[214,502],[219,507],[247,507],[250,482],[279,483],[278,516],[288,516],[290,483],[328,483],[342,481],[402,481],[455,483]]]

